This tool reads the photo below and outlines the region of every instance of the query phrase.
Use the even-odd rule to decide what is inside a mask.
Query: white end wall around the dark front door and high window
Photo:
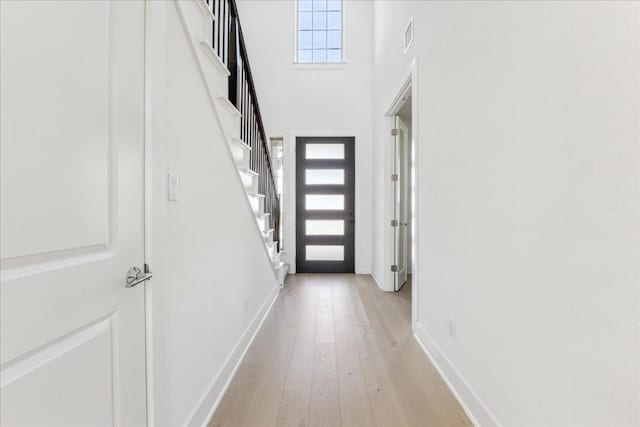
[[[371,270],[372,3],[344,3],[346,66],[296,68],[295,2],[240,0],[240,21],[268,136],[283,136],[293,160],[295,136],[356,137],[356,260]],[[293,163],[285,164],[285,248],[295,243]],[[294,254],[290,253],[290,260]]]

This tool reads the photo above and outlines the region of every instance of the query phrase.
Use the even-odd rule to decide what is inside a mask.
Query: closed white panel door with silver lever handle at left
[[[146,425],[144,2],[0,1],[0,424]]]

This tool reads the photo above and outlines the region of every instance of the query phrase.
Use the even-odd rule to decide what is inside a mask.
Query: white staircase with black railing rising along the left
[[[289,265],[281,260],[284,251],[279,241],[280,196],[235,0],[192,2],[200,9],[200,16],[194,18],[187,13],[186,6],[181,6],[183,19],[191,21],[185,22],[185,26],[203,28],[201,34],[199,31],[191,34],[194,45],[200,48],[201,69],[266,253],[278,283],[283,286]]]

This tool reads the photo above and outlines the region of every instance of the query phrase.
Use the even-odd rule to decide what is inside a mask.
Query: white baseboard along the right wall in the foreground
[[[438,347],[435,341],[429,337],[429,334],[420,322],[414,323],[413,333],[418,344],[420,344],[429,360],[431,360],[431,363],[433,363],[438,370],[438,373],[440,373],[440,376],[458,400],[458,403],[460,403],[460,406],[462,406],[462,409],[464,409],[464,412],[473,425],[476,427],[501,427],[502,424],[500,424],[487,405],[473,391],[469,383],[440,350],[440,347]]]

